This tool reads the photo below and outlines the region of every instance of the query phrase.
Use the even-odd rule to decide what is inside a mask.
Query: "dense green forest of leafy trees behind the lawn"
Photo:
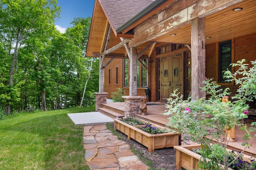
[[[0,118],[95,105],[99,61],[85,56],[91,17],[62,34],[59,15],[57,0],[0,0]]]

